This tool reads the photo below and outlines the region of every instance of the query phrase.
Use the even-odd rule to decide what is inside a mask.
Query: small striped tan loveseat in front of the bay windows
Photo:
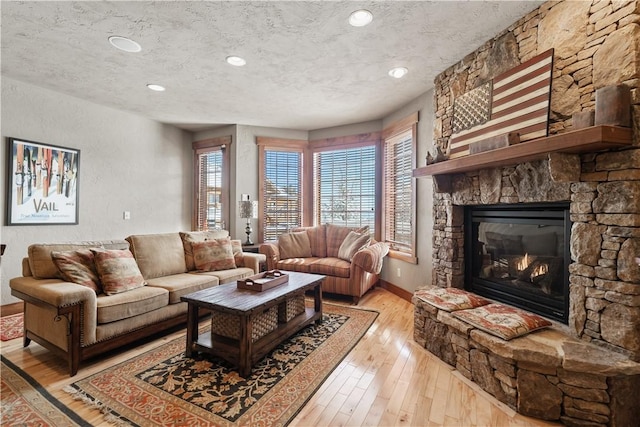
[[[267,269],[323,274],[322,291],[360,297],[379,280],[389,247],[371,242],[369,230],[333,224],[300,227],[260,245]]]

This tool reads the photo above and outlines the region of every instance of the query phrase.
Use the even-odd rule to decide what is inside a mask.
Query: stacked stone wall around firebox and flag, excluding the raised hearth
[[[570,31],[567,31],[570,30]],[[434,141],[447,152],[453,101],[554,48],[550,134],[594,110],[596,90],[631,89],[633,146],[527,162],[435,182],[433,281],[464,287],[465,205],[570,202],[569,325],[574,336],[640,360],[640,5],[638,1],[551,1],[435,79]],[[445,192],[446,191],[446,192]]]

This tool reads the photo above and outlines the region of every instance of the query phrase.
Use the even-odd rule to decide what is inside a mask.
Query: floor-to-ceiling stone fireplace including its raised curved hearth
[[[442,166],[433,174],[432,285],[439,287],[472,289],[473,273],[480,281],[521,280],[531,265],[510,264],[515,256],[507,256],[504,244],[498,253],[496,245],[479,249],[468,242],[480,234],[473,220],[465,227],[470,209],[568,206],[569,260],[561,273],[566,312],[562,318],[547,313],[556,321],[552,329],[503,341],[414,298],[419,344],[518,412],[566,425],[624,426],[640,419],[639,23],[637,1],[548,2],[435,79],[434,145],[443,153],[453,132],[454,99],[549,48],[549,135],[567,135],[563,144],[574,144],[572,135],[580,138],[572,116],[595,109],[597,89],[631,88],[631,136],[623,147],[553,147],[536,159],[522,156],[497,167],[478,163],[450,173]],[[550,146],[556,141],[548,140]],[[483,245],[491,246],[487,232],[496,231],[482,230]],[[469,262],[474,256],[479,264]],[[534,284],[526,276],[530,283],[520,284]]]

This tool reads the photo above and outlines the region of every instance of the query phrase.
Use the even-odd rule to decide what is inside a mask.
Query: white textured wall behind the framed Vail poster
[[[191,228],[192,135],[173,126],[2,77],[1,303],[17,302],[9,279],[36,242],[123,239]],[[76,148],[78,225],[5,226],[6,138]],[[131,219],[123,220],[123,211]]]

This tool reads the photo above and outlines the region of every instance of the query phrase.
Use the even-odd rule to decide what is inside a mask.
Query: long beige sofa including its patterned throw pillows
[[[24,346],[36,341],[75,375],[82,360],[186,323],[181,296],[255,274],[261,258],[225,230],[33,244],[10,280]]]

